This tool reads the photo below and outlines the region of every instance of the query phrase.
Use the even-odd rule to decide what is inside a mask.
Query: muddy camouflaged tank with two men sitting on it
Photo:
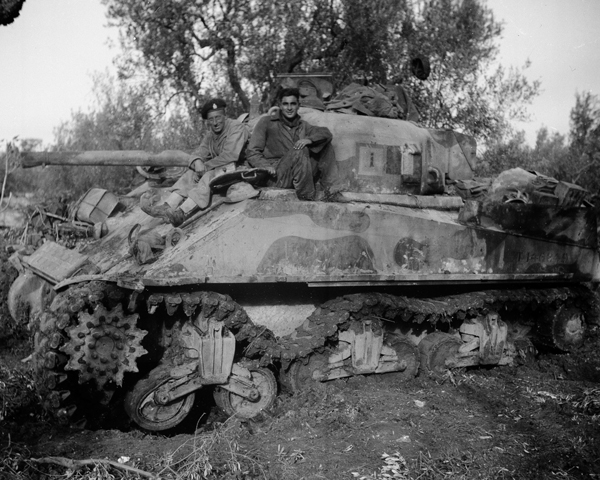
[[[36,384],[54,417],[94,427],[124,409],[163,431],[184,421],[201,389],[227,414],[254,418],[281,390],[310,382],[410,380],[582,344],[597,322],[586,285],[600,273],[596,210],[583,190],[531,172],[516,189],[482,187],[469,136],[300,113],[333,133],[335,195],[300,201],[256,187],[232,199],[228,185],[257,178],[234,172],[179,228],[113,199],[101,238],[19,258],[11,311],[30,317]],[[185,165],[181,152],[160,161],[87,152],[75,163],[124,155]],[[139,261],[144,238],[150,253]]]

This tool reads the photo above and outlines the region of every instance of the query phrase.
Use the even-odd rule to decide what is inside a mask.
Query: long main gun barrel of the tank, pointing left
[[[41,165],[100,165],[122,167],[187,167],[191,156],[181,150],[160,153],[143,150],[96,150],[83,152],[24,152],[23,168]]]

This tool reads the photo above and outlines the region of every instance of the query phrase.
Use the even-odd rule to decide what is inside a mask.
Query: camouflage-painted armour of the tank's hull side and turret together
[[[599,278],[593,209],[476,202],[460,207],[460,201],[450,202],[450,209],[435,209],[372,201],[403,195],[416,199],[417,206],[420,198],[448,203],[443,201],[448,196],[415,194],[431,189],[432,171],[442,183],[472,178],[475,143],[470,137],[402,120],[307,108],[300,113],[309,123],[332,131],[344,191],[351,193],[351,201],[301,202],[284,191],[291,197],[265,192],[262,199],[222,204],[185,227],[176,246],[146,265],[128,257],[131,227],[140,223],[142,235],[153,231],[164,236],[172,227],[133,208],[109,225],[107,237],[83,251],[98,266],[101,278],[137,288]]]

